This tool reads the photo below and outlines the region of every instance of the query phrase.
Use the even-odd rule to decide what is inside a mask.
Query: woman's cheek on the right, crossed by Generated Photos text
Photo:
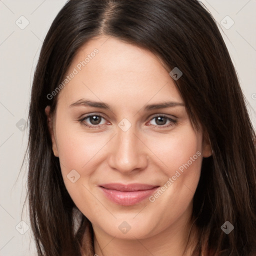
[[[196,190],[201,170],[202,136],[187,125],[168,138],[159,139],[158,146],[154,141],[151,140],[150,147],[161,160],[164,175],[161,187],[150,197],[150,201],[157,204],[159,211],[166,213],[163,213],[162,219],[171,221],[186,210]],[[172,212],[172,217],[169,212]]]

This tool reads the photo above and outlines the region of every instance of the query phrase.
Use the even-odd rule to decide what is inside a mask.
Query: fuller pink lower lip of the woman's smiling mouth
[[[130,192],[121,192],[119,190],[107,189],[101,186],[100,188],[109,200],[119,205],[127,206],[127,205],[136,204],[144,200],[145,198],[149,197],[158,188],[158,186],[153,187],[151,189],[130,191]]]

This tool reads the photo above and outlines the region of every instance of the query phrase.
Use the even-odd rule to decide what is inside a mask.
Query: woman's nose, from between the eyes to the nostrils
[[[133,126],[127,131],[117,127],[117,134],[110,141],[108,164],[123,174],[133,173],[133,170],[142,170],[147,166],[147,147],[135,132]]]

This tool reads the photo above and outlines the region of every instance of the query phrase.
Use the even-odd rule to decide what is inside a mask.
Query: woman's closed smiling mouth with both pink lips
[[[148,198],[159,186],[150,184],[101,184],[99,188],[112,202],[119,205],[134,205]]]

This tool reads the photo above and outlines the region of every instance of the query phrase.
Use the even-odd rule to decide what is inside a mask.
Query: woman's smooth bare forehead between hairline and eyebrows
[[[92,97],[126,104],[153,99],[182,102],[169,70],[155,54],[114,37],[101,36],[86,42],[66,75],[71,73],[75,75],[60,93],[65,101]]]

